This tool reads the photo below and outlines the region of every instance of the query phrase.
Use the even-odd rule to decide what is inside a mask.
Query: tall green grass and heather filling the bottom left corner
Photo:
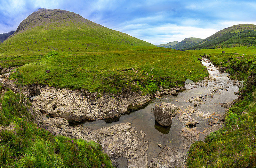
[[[49,131],[26,121],[30,107],[19,94],[7,91],[3,114],[14,123],[13,130],[0,133],[0,166],[3,168],[111,168],[109,157],[100,144],[82,139],[53,136]],[[13,111],[12,111],[13,110]],[[33,112],[32,112],[33,113]]]

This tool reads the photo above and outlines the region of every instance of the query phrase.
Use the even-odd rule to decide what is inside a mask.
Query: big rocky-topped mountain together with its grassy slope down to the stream
[[[157,85],[168,88],[187,78],[203,79],[207,71],[199,57],[156,47],[65,10],[31,14],[0,44],[0,65],[22,66],[18,69],[26,84],[102,93],[140,89],[146,94],[156,91]]]

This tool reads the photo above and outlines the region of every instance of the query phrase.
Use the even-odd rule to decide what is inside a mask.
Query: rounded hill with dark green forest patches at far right
[[[238,44],[256,44],[256,25],[238,24],[216,32],[190,49],[214,46],[239,46]]]

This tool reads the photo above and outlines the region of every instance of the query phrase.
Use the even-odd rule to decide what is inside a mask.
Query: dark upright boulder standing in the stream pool
[[[168,127],[172,123],[171,115],[161,106],[155,104],[154,115],[156,122],[164,127]]]

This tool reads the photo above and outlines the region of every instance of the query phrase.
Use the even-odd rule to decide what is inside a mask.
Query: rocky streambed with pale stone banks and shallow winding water
[[[227,102],[237,98],[238,89],[218,86],[220,80],[230,82],[228,74],[220,74],[207,59],[202,63],[210,74],[208,84],[196,82],[187,90],[159,87],[155,95],[100,95],[31,85],[23,94],[31,100],[38,125],[55,135],[100,143],[116,167],[185,167],[190,145],[219,129],[232,104]],[[0,81],[17,92],[9,75],[2,74]],[[155,122],[156,111],[167,117],[159,115]]]

